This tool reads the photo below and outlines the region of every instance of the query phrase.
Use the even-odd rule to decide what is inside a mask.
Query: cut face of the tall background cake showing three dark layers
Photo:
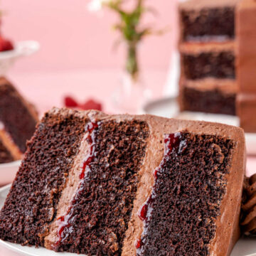
[[[235,6],[238,1],[190,0],[180,4],[181,111],[236,113]]]

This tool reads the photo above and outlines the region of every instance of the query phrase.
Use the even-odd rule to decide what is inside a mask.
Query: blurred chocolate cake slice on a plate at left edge
[[[33,105],[6,78],[0,78],[0,163],[21,159],[37,122]]]

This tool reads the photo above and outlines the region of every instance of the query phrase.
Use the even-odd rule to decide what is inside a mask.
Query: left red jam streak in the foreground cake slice
[[[82,181],[85,178],[86,171],[90,170],[90,164],[92,163],[92,161],[94,161],[95,156],[96,156],[95,144],[94,144],[94,138],[93,138],[92,132],[94,132],[95,129],[97,129],[97,127],[99,127],[99,124],[97,122],[90,122],[85,127],[85,132],[88,133],[86,139],[87,139],[87,142],[89,142],[89,144],[90,144],[90,152],[81,167],[82,171],[80,173],[79,178]],[[70,218],[73,216],[72,206],[78,202],[78,196],[82,192],[82,186],[81,186],[82,181],[80,181],[80,184],[78,186],[78,191],[77,191],[76,195],[74,196],[73,201],[71,201],[71,203],[70,203],[70,207],[68,208],[67,214],[60,216],[57,219],[59,227],[58,227],[58,241],[56,242],[56,245],[60,245],[60,243],[63,241],[63,239],[65,239],[65,238],[63,238],[63,232],[64,232],[64,230],[66,230],[67,228],[70,228],[70,226],[71,226]]]

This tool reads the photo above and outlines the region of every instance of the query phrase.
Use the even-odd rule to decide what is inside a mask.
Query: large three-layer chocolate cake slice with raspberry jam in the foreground
[[[0,238],[89,256],[229,255],[244,171],[237,127],[53,109],[28,143]]]

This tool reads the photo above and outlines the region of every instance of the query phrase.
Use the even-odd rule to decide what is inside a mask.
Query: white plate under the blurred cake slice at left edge
[[[0,164],[0,186],[9,184],[14,180],[20,164],[21,160],[13,161],[8,164]]]

